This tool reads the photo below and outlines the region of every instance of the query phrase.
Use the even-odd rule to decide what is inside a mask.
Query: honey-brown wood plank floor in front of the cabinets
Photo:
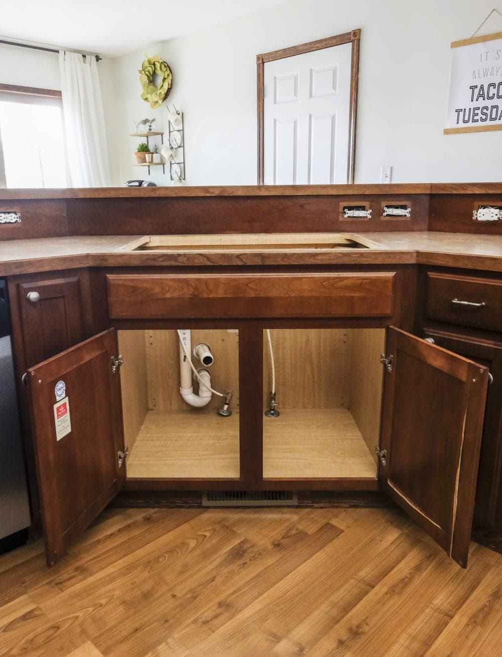
[[[502,556],[459,568],[394,509],[107,509],[0,557],[0,654],[502,654]]]

